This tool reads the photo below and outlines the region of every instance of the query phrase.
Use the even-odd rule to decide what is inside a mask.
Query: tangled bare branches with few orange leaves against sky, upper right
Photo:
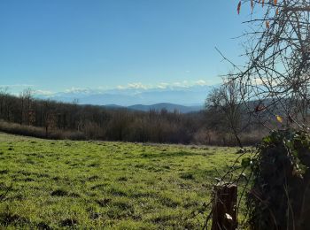
[[[250,30],[244,34],[248,62],[233,64],[236,74],[230,80],[238,82],[251,111],[249,102],[257,101],[278,121],[304,129],[310,89],[310,1],[244,0],[238,12],[246,4],[252,7],[246,22]]]

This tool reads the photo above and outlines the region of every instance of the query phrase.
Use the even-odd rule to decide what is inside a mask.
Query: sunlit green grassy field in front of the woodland
[[[0,134],[0,228],[196,229],[236,149]]]

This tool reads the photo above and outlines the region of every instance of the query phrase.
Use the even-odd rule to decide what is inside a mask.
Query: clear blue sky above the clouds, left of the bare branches
[[[242,53],[236,0],[2,0],[0,87],[215,84]],[[245,13],[244,13],[245,14]]]

